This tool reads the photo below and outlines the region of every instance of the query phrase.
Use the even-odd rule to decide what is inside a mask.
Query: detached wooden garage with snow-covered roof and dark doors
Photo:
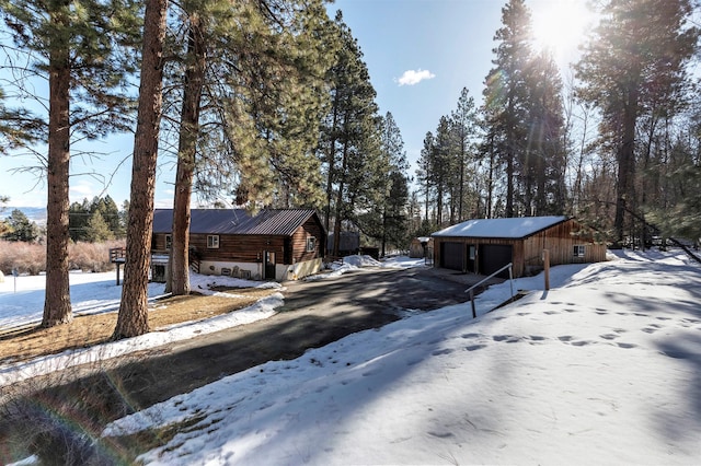
[[[606,260],[606,245],[566,217],[469,220],[432,236],[436,266],[464,273],[491,275],[508,263],[514,277],[535,273],[542,269],[543,249],[552,266]]]

